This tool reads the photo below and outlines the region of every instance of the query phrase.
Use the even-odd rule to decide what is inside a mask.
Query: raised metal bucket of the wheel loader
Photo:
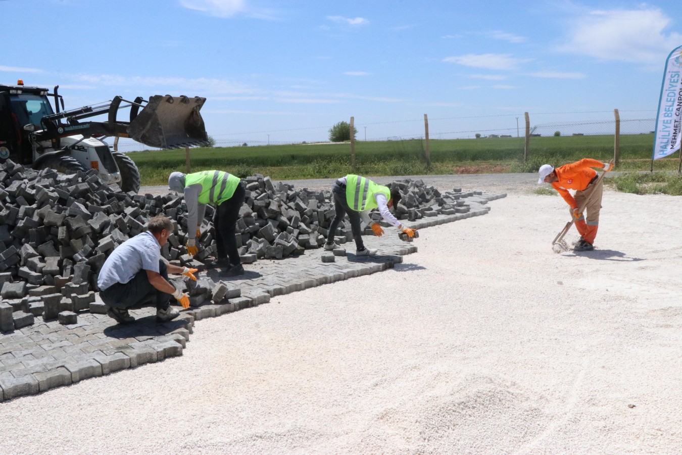
[[[199,110],[206,98],[154,95],[127,128],[135,141],[160,149],[201,145],[208,139]]]

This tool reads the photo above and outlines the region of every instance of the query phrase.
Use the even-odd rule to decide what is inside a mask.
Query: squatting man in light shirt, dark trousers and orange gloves
[[[168,282],[168,274],[183,274],[196,280],[196,269],[168,264],[161,256],[161,247],[173,232],[173,223],[165,216],[155,216],[147,222],[147,229],[124,241],[106,258],[97,280],[100,297],[109,307],[106,314],[121,324],[132,323],[134,318],[128,308],[149,297],[156,304],[159,322],[170,321],[180,314],[170,308],[171,295],[182,308],[190,306],[189,297]]]

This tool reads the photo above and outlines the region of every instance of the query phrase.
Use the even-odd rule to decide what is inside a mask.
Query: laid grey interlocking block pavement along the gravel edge
[[[466,199],[470,207],[467,213],[404,224],[424,229],[484,215],[490,211],[488,201],[505,196],[472,196]],[[418,241],[400,241],[389,230],[383,237],[371,239],[369,246],[379,250],[376,256],[355,256],[351,241],[346,244],[346,256],[335,256],[331,263],[322,262],[322,255],[328,252],[318,248],[279,261],[260,259],[245,265],[246,273],[238,278],[221,276],[218,270],[202,272],[216,282],[222,280],[238,287],[241,296],[226,304],[190,307],[168,323],[156,323],[156,310],[151,307],[131,310],[136,318],[131,325],[118,325],[106,314],[91,312],[78,314],[78,323],[72,325],[35,318],[29,327],[0,334],[0,402],[182,355],[195,321],[265,304],[276,295],[392,268],[402,263],[402,256],[417,252]]]

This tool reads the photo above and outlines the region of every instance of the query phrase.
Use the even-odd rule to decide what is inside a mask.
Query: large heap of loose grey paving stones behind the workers
[[[335,215],[331,192],[295,190],[258,174],[245,180],[246,200],[237,220],[243,263],[282,259],[323,245]],[[401,220],[464,213],[469,207],[461,198],[473,195],[460,190],[441,194],[421,180],[395,181],[391,186],[403,195],[396,207]],[[11,160],[0,163],[0,332],[30,325],[34,317],[72,324],[80,311],[106,311],[95,302],[106,256],[143,232],[147,220],[158,214],[177,225],[162,255],[173,263],[203,269],[216,252],[212,212],[207,207],[203,249],[190,256],[181,195],[124,193],[117,185],[104,184],[95,170],[63,175],[24,168]],[[378,213],[372,218],[381,220]],[[346,223],[337,231],[341,243],[350,236]],[[208,278],[197,282],[174,278],[173,283],[189,291],[193,305],[239,297],[239,289]]]

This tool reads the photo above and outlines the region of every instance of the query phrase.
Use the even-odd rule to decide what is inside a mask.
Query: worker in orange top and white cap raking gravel
[[[576,251],[594,250],[593,244],[599,228],[599,210],[602,208],[604,185],[602,180],[597,180],[597,171],[592,169],[593,167],[603,168],[604,172],[611,171],[613,168],[609,163],[583,158],[556,169],[550,164],[543,164],[538,171],[537,184],[542,185],[543,182],[551,184],[571,207],[571,215],[580,233],[580,239],[574,248]],[[576,190],[575,197],[568,190]],[[579,213],[578,207],[583,205],[588,198],[589,202],[585,206],[586,221],[584,215]]]

